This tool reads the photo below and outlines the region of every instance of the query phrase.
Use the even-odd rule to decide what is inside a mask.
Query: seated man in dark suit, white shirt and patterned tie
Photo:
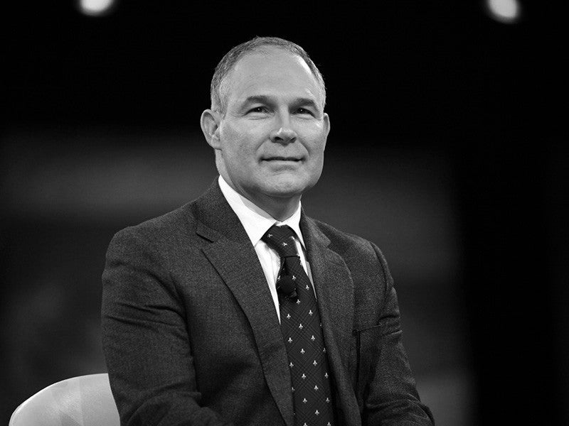
[[[219,63],[201,127],[220,177],[107,253],[103,345],[124,425],[432,424],[381,252],[302,212],[325,93],[280,38]]]

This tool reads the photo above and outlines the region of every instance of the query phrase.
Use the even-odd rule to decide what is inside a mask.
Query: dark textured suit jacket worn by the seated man
[[[304,213],[300,226],[339,425],[430,425],[380,251]],[[124,425],[294,425],[275,305],[217,181],[119,231],[102,281],[103,348]]]

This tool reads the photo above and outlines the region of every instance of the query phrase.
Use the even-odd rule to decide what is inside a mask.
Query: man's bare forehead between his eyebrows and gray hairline
[[[243,55],[226,78],[225,92],[228,104],[259,94],[322,101],[307,63],[299,55],[272,46]]]

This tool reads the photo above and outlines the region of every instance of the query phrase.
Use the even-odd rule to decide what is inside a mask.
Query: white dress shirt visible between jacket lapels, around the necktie
[[[306,257],[304,256],[304,239],[302,238],[302,232],[300,231],[300,202],[298,203],[297,209],[294,211],[291,217],[283,222],[278,221],[270,214],[265,212],[265,210],[260,209],[257,205],[250,202],[247,198],[240,195],[232,187],[228,185],[227,182],[220,175],[218,178],[219,187],[225,200],[229,203],[233,212],[237,214],[241,224],[245,228],[245,232],[251,240],[251,244],[255,247],[257,252],[257,257],[262,266],[262,271],[265,273],[265,278],[267,278],[267,283],[272,295],[272,301],[275,303],[275,310],[277,310],[277,316],[280,321],[280,310],[279,310],[279,297],[277,296],[277,275],[280,271],[280,256],[279,254],[271,249],[265,241],[262,241],[262,236],[265,232],[274,224],[279,226],[288,225],[297,234],[297,238],[294,241],[297,244],[297,252],[300,255],[300,263],[307,273],[310,282],[312,283],[312,275],[310,273],[310,267],[307,264]],[[314,285],[313,285],[314,287]]]

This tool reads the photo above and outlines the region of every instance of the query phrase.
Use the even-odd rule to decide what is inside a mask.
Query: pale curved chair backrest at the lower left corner
[[[18,405],[9,426],[120,426],[107,373],[53,383]]]

